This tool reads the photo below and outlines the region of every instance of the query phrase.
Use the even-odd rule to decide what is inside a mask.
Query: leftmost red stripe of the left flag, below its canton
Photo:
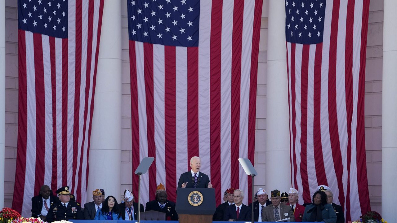
[[[25,188],[26,140],[27,140],[27,79],[25,31],[18,30],[18,150],[15,169],[15,185],[12,209],[21,213]]]

